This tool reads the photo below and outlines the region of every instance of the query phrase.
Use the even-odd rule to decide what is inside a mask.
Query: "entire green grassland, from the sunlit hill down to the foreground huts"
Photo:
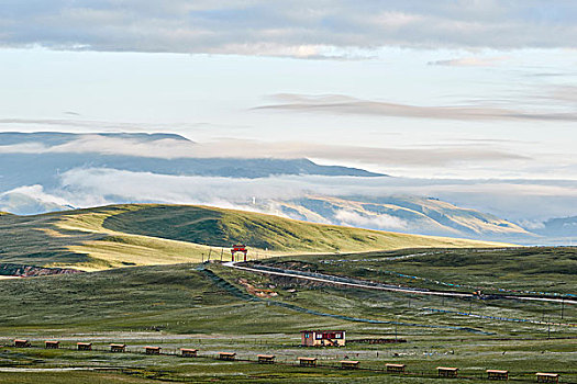
[[[486,369],[506,369],[519,382],[550,371],[577,383],[574,305],[378,292],[199,263],[243,241],[255,245],[249,255],[275,256],[254,262],[277,268],[569,297],[577,291],[574,248],[458,248],[491,244],[174,205],[1,216],[0,240],[3,263],[95,271],[0,280],[0,383],[442,383],[439,365],[458,366],[467,382],[481,381]],[[349,342],[299,347],[299,331],[310,328],[345,329]],[[36,347],[57,339],[63,348],[10,347],[16,337]],[[364,338],[407,342],[354,341]],[[77,341],[91,341],[95,350],[75,351]],[[129,352],[108,352],[110,342],[126,343]],[[167,354],[144,355],[148,345]],[[198,348],[200,358],[173,355],[179,348]],[[219,351],[234,351],[241,361],[215,360]],[[275,354],[279,364],[256,364],[258,353]],[[315,357],[321,366],[293,366],[299,355]],[[336,369],[345,358],[367,370]],[[404,363],[410,374],[384,374],[386,362]]]

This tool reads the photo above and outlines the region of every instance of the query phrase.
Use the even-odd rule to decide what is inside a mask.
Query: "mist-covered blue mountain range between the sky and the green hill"
[[[0,210],[30,215],[115,203],[184,203],[520,244],[564,244],[575,234],[572,219],[554,219],[554,213],[548,221],[530,222],[522,213],[514,221],[486,212],[484,201],[495,207],[492,202],[502,200],[499,191],[465,191],[461,203],[450,203],[458,196],[452,191],[475,189],[475,181],[443,187],[443,181],[390,178],[306,158],[210,157],[214,155],[224,154],[203,151],[176,134],[0,133]],[[437,184],[448,201],[428,192]]]

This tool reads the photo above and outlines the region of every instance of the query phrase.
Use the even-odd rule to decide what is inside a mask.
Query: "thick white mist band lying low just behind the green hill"
[[[567,180],[430,180],[319,176],[232,179],[113,169],[75,169],[64,173],[62,182],[62,191],[49,193],[63,196],[74,206],[122,202],[251,206],[253,196],[259,201],[307,195],[378,197],[408,194],[439,197],[510,221],[544,221],[577,215],[577,181]]]

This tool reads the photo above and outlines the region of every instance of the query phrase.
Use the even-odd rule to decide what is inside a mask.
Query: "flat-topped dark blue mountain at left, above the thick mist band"
[[[95,142],[99,138],[122,139],[130,140],[126,145],[145,143],[149,146],[155,142],[185,142],[190,144],[191,155],[195,149],[193,142],[179,135],[167,134],[0,133],[0,192],[32,184],[47,189],[56,188],[59,183],[58,176],[76,168],[225,178],[264,178],[274,174],[382,176],[356,168],[320,166],[309,159],[160,158],[146,154],[114,155],[106,147],[76,151],[75,142],[87,137]],[[34,150],[34,145],[42,150]],[[63,149],[63,145],[73,148]]]

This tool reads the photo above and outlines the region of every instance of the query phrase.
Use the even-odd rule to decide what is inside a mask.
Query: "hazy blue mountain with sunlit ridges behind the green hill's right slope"
[[[432,197],[326,197],[263,202],[269,212],[317,223],[348,225],[406,234],[482,238],[534,238],[521,226]]]

